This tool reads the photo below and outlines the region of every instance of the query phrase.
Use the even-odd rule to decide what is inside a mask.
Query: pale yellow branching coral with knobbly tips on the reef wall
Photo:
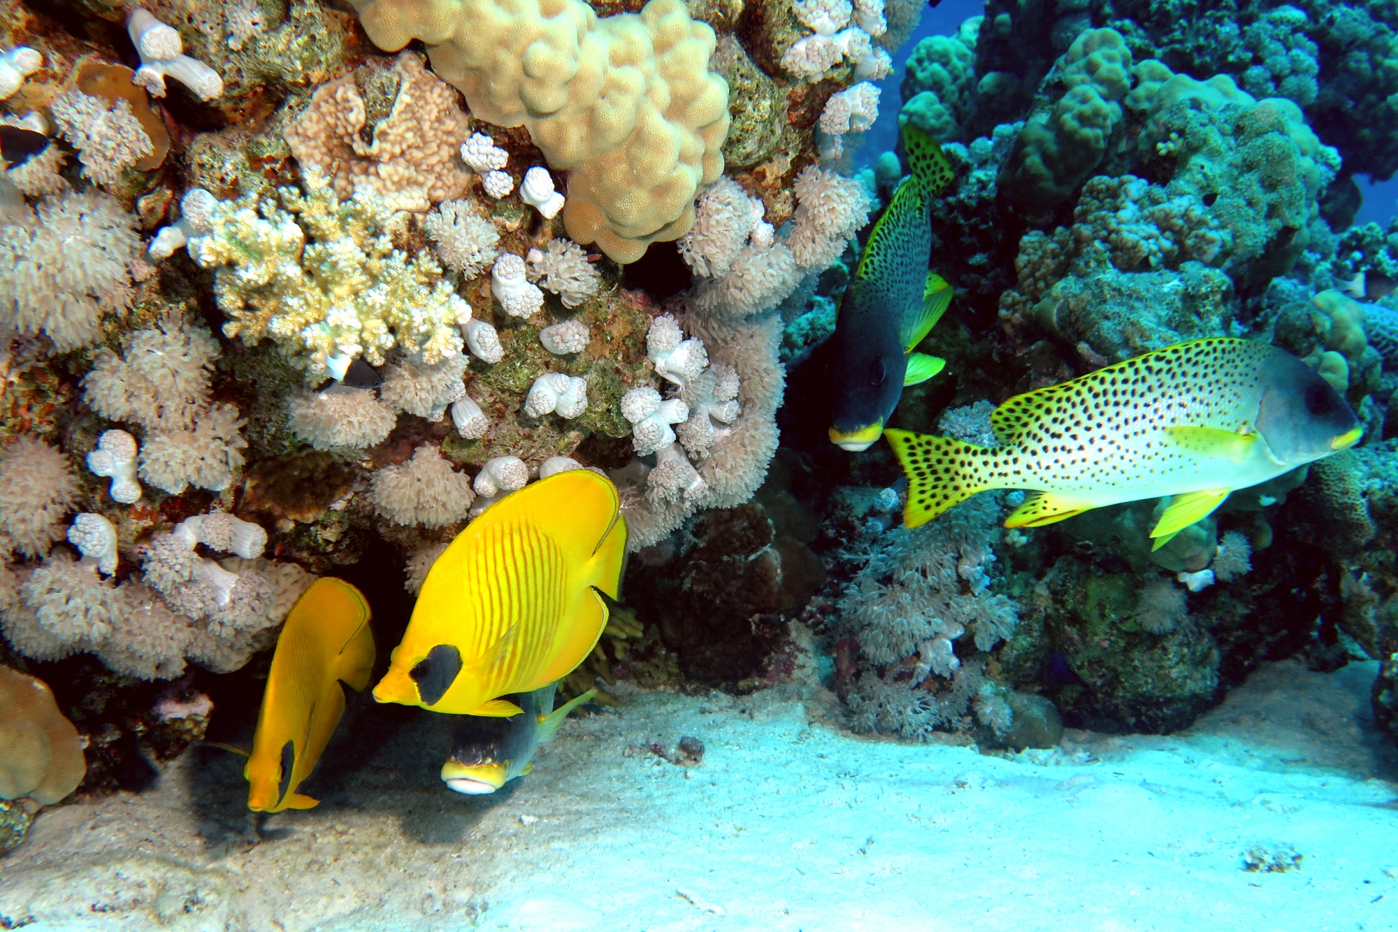
[[[212,232],[190,239],[189,253],[218,269],[224,333],[247,344],[270,336],[310,381],[333,358],[383,365],[393,347],[432,365],[461,353],[457,326],[471,308],[431,253],[394,245],[401,217],[366,189],[340,200],[312,175],[306,193],[219,202]]]

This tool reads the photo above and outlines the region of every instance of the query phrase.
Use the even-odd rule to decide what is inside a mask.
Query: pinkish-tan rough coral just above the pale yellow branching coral
[[[422,213],[466,193],[471,172],[457,148],[471,134],[470,120],[456,92],[415,53],[401,53],[390,73],[398,92],[372,141],[362,134],[366,109],[352,74],[316,88],[282,137],[298,162],[330,176],[341,199],[366,186],[389,210]]]

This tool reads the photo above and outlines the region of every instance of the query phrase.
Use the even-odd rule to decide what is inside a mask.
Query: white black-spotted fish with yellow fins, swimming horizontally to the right
[[[987,488],[1039,493],[1007,528],[1173,495],[1151,532],[1159,549],[1233,490],[1329,456],[1363,432],[1309,365],[1229,337],[1179,343],[1016,395],[990,423],[1000,446],[885,431],[909,479],[909,528]]]

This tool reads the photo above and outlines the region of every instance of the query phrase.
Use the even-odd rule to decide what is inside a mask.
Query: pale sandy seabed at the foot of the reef
[[[0,861],[0,928],[1398,929],[1374,669],[1278,663],[1187,732],[1015,757],[850,735],[814,686],[621,687],[493,796],[440,784],[447,722],[414,711],[340,739],[322,805],[273,816],[199,747],[147,792],[42,813]],[[649,750],[686,735],[698,764]]]

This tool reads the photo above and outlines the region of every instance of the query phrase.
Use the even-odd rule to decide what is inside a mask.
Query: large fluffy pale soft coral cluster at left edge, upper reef
[[[52,147],[50,147],[52,148]],[[95,343],[103,313],[124,313],[136,218],[96,190],[0,216],[0,329],[45,333],[60,351]]]

